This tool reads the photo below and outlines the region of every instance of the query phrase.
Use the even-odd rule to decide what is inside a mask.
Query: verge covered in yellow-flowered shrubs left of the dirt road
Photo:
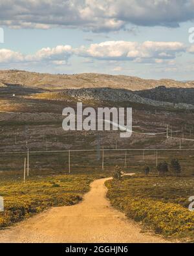
[[[0,228],[10,226],[48,207],[74,205],[80,202],[89,184],[98,175],[61,175],[20,180],[1,180],[0,195],[5,212],[0,213]]]

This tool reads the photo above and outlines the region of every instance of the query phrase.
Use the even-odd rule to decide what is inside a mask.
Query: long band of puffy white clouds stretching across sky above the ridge
[[[81,46],[77,49],[70,45],[58,45],[54,48],[45,47],[34,54],[28,55],[9,49],[0,49],[0,62],[50,62],[54,65],[65,65],[72,55],[76,55],[85,58],[87,62],[96,59],[162,64],[164,62],[170,63],[175,60],[177,54],[185,51],[184,44],[176,41],[145,41],[144,43],[104,41],[102,43],[92,43],[88,47]]]

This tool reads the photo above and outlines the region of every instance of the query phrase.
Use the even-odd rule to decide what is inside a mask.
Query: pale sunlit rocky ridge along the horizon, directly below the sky
[[[76,89],[91,87],[111,87],[118,89],[129,89],[138,91],[152,89],[160,85],[166,87],[194,87],[194,81],[178,82],[175,80],[145,80],[135,76],[113,76],[94,73],[79,75],[50,75],[27,71],[8,70],[0,71],[0,84],[20,84],[27,87],[38,87],[41,89]]]

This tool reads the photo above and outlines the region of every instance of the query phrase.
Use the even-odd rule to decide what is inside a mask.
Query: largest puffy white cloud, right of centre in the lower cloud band
[[[162,60],[173,59],[178,52],[186,51],[186,47],[180,42],[156,42],[145,41],[137,43],[131,41],[105,41],[92,43],[89,47],[80,47],[77,54],[85,57],[102,60]]]

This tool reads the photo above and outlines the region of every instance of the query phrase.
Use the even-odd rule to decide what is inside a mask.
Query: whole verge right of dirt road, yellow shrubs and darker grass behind
[[[194,213],[188,210],[193,178],[137,175],[106,185],[111,204],[129,218],[165,237],[194,240]]]

